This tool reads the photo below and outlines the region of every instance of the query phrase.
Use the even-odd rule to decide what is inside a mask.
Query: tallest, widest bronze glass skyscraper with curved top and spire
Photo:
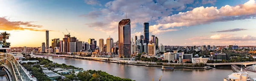
[[[118,24],[119,57],[131,58],[131,20],[123,19]]]

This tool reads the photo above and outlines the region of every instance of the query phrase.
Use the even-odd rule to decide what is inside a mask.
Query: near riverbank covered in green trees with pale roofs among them
[[[83,70],[83,68],[74,67],[73,65],[66,65],[66,64],[58,64],[49,59],[45,58],[27,58],[28,60],[38,60],[39,63],[28,62],[23,63],[23,67],[26,68],[28,71],[32,71],[33,76],[38,78],[38,81],[134,81],[128,78],[120,78],[117,76],[110,75],[101,70]],[[42,66],[42,67],[41,67]],[[44,71],[43,71],[44,68]],[[47,68],[47,69],[45,69]],[[62,69],[62,70],[57,70]],[[46,71],[47,70],[47,71]],[[71,71],[70,71],[71,70]],[[54,72],[58,73],[58,77],[49,77],[48,75],[45,76],[45,72]],[[64,74],[62,71],[66,71],[69,74]],[[78,73],[76,73],[78,72]],[[52,74],[51,74],[52,75]],[[49,79],[51,78],[51,79]]]

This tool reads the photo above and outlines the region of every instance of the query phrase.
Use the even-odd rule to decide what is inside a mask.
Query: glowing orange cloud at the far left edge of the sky
[[[32,24],[33,22],[22,22],[16,21],[12,22],[9,21],[6,17],[0,17],[0,30],[31,30],[31,31],[46,31],[46,30],[39,30],[36,28],[41,28],[41,25]],[[49,30],[51,31],[51,30]]]

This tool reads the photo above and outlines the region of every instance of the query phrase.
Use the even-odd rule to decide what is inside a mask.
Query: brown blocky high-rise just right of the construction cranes
[[[76,37],[67,38],[67,52],[76,52]]]

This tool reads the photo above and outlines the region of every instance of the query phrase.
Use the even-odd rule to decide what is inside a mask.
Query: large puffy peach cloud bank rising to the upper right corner
[[[255,0],[249,0],[242,5],[225,5],[217,7],[198,7],[192,11],[180,12],[172,16],[163,16],[155,24],[154,30],[168,30],[170,27],[189,27],[212,22],[226,22],[243,19],[256,19]],[[150,26],[150,27],[154,27]]]

